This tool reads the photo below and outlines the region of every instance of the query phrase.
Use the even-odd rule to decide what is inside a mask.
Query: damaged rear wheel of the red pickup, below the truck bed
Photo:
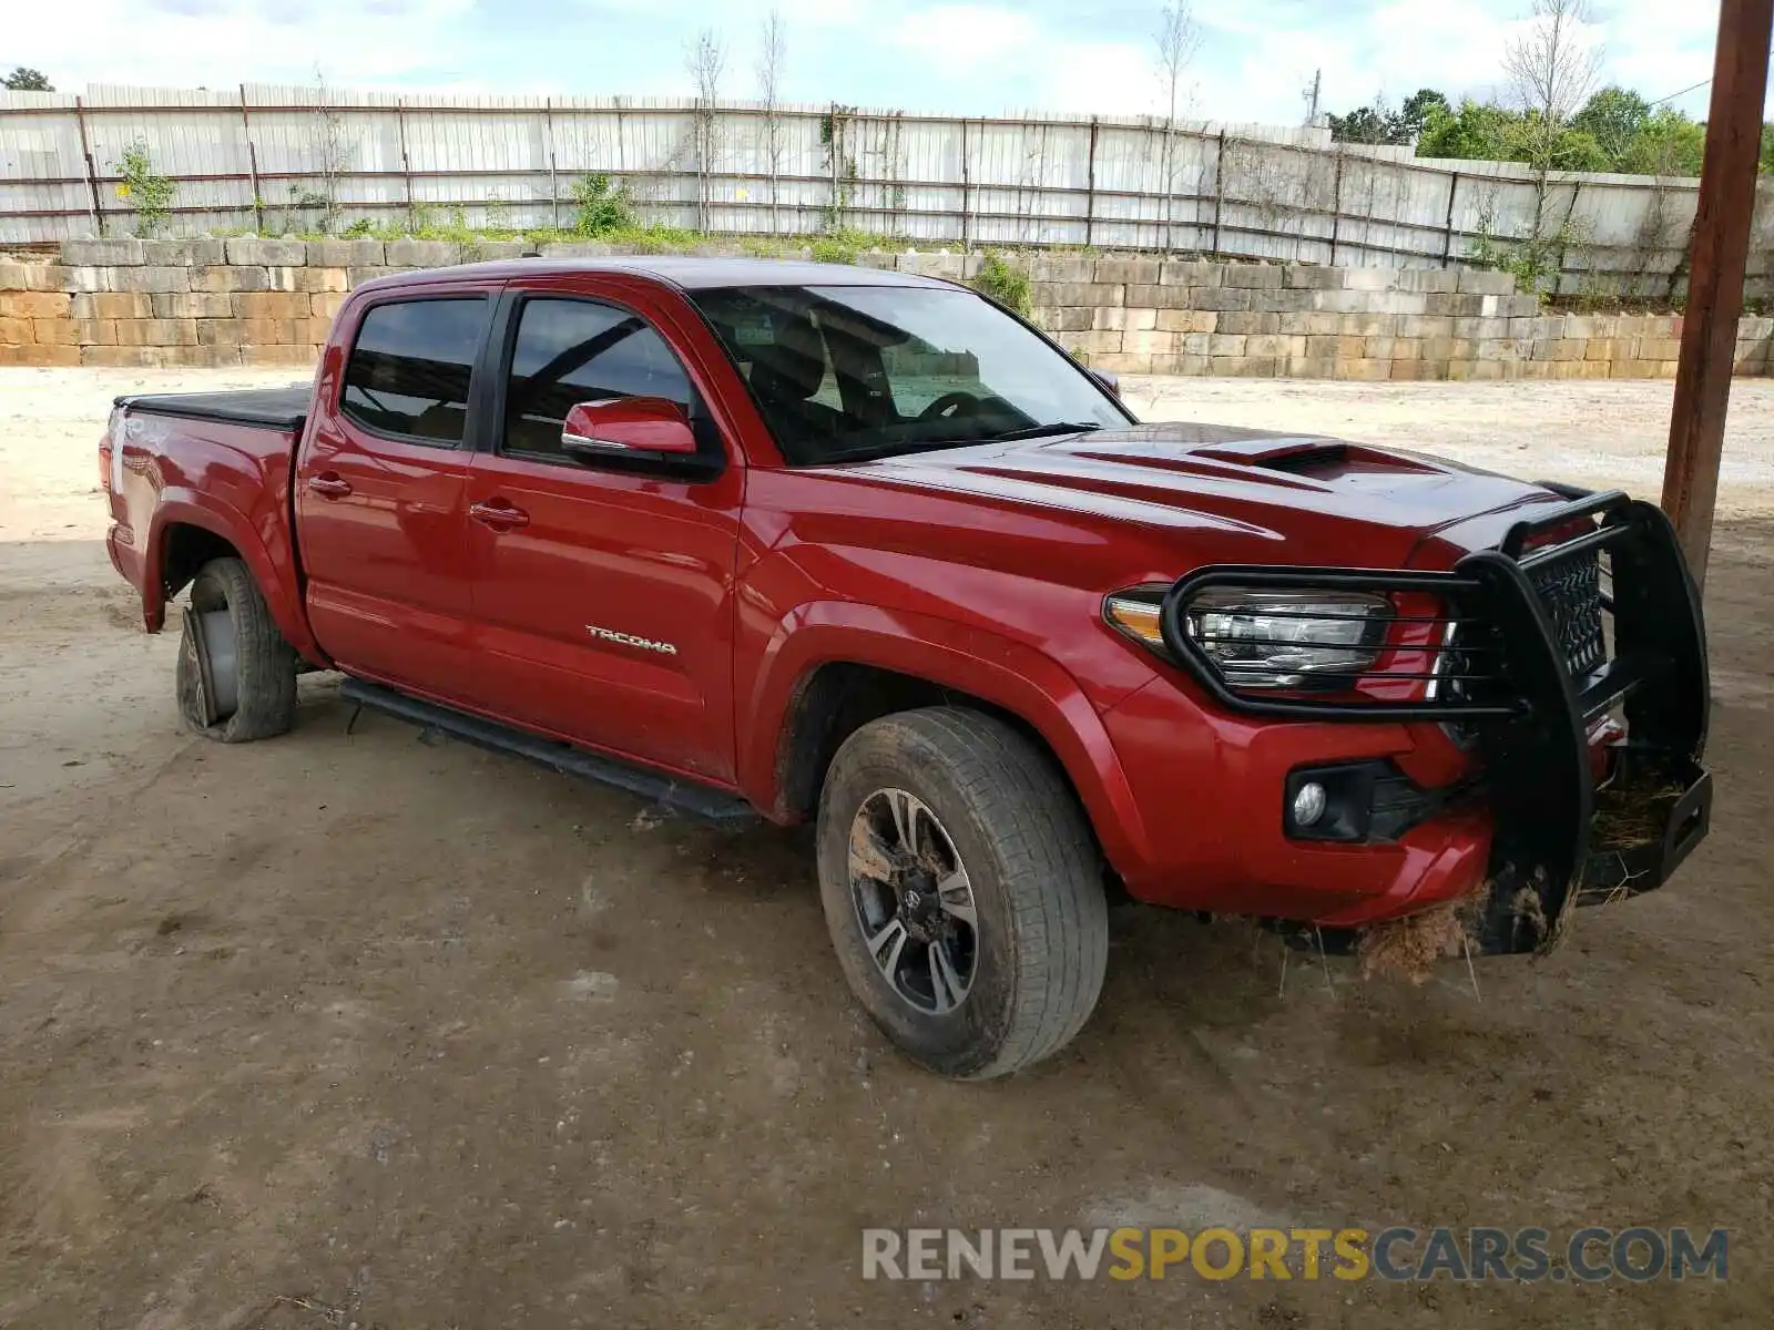
[[[206,617],[211,628],[192,622]],[[215,633],[216,651],[208,637]],[[225,645],[224,645],[225,644]],[[206,686],[204,674],[211,676]],[[218,743],[284,734],[296,716],[296,653],[239,559],[211,559],[192,580],[192,610],[179,642],[179,716]],[[211,704],[204,706],[204,697]]]

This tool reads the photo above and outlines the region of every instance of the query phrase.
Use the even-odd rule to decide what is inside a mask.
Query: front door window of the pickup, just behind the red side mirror
[[[665,397],[688,411],[692,388],[665,339],[639,314],[591,300],[523,301],[500,450],[566,461],[566,413],[607,397]]]

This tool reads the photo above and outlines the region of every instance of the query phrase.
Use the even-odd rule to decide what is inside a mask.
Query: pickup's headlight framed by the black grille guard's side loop
[[[1313,676],[1361,674],[1385,642],[1393,606],[1332,591],[1210,587],[1183,610],[1189,637],[1233,688],[1299,688]]]

